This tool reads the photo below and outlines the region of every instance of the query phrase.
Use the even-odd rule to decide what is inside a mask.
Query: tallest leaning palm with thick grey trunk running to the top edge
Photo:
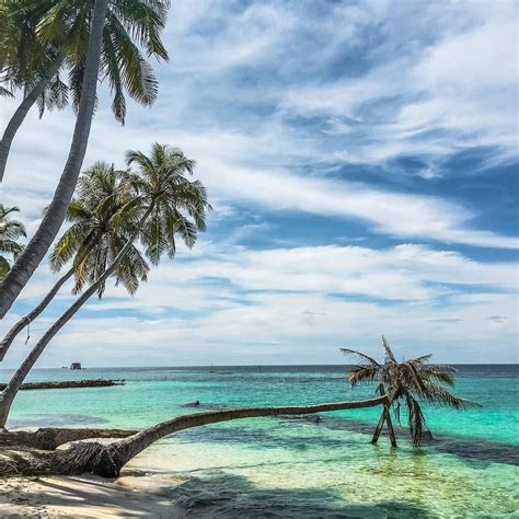
[[[93,0],[92,0],[93,1]],[[111,5],[116,0],[111,0]],[[69,3],[65,0],[62,3]],[[80,2],[81,3],[81,2]],[[84,2],[83,2],[84,3]],[[147,49],[159,46],[158,35],[165,24],[165,18],[169,8],[169,0],[142,0],[141,2],[124,2],[126,4],[136,5],[137,3],[146,3],[152,5],[157,13],[154,16],[141,12],[142,19],[153,18],[158,24],[155,33],[146,33],[138,27],[128,27],[127,33],[136,38],[142,38],[141,45]],[[103,34],[105,20],[107,20],[108,0],[95,0],[91,10],[91,25],[89,33],[89,43],[84,51],[84,59],[81,67],[77,69],[78,77],[81,77],[81,94],[78,101],[77,119],[72,141],[70,145],[69,157],[65,165],[64,172],[59,180],[58,186],[54,194],[53,200],[48,207],[42,223],[39,224],[33,239],[30,241],[25,251],[20,255],[12,269],[0,284],[0,319],[5,315],[12,303],[19,296],[20,291],[26,285],[38,264],[44,258],[53,240],[61,227],[65,219],[67,208],[72,198],[76,183],[83,163],[89,141],[92,116],[96,102],[97,78],[101,65],[101,55],[103,49]],[[120,13],[116,13],[112,21],[114,24],[122,23]],[[126,46],[129,45],[130,42]],[[112,56],[113,62],[118,62],[117,58]],[[126,84],[128,90],[131,84],[132,72],[141,70],[142,64],[139,60],[132,60],[128,67],[127,73],[119,73],[111,79],[115,94],[117,95],[117,84]],[[115,71],[116,69],[114,69]],[[117,77],[119,78],[117,80]]]

